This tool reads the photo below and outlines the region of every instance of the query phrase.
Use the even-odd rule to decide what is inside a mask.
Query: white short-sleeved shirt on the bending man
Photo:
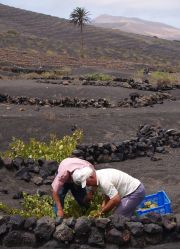
[[[102,192],[112,199],[119,194],[121,198],[134,192],[141,182],[117,169],[96,170],[97,185]]]

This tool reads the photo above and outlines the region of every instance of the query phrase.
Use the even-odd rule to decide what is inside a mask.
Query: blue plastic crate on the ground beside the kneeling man
[[[139,208],[144,207],[144,203],[147,201],[151,201],[152,203],[156,203],[157,207],[148,208],[146,210],[139,210]],[[144,200],[138,206],[136,213],[138,216],[146,215],[147,213],[155,212],[158,214],[169,214],[172,213],[171,209],[171,201],[169,200],[165,191],[159,191],[152,195],[145,196]]]

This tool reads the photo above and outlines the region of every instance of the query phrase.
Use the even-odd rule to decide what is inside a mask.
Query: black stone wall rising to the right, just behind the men
[[[157,153],[166,153],[167,146],[180,147],[180,131],[151,125],[139,127],[136,137],[114,143],[81,144],[73,155],[92,163],[118,162],[141,156],[158,160]]]

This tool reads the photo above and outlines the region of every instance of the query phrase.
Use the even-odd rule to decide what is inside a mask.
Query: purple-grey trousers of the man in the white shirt
[[[145,197],[145,189],[141,184],[132,194],[121,199],[119,206],[114,213],[121,214],[126,217],[131,217],[136,210],[136,207],[141,203]]]

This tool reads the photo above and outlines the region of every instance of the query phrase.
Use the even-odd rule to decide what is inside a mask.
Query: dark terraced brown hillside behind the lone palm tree
[[[85,26],[84,40],[83,64],[180,67],[178,41],[92,25]],[[79,29],[68,20],[0,4],[1,65],[76,65],[79,52]]]

